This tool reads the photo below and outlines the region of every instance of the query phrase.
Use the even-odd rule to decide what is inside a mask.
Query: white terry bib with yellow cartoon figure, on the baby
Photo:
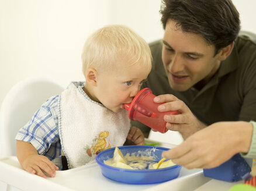
[[[59,133],[68,168],[94,162],[96,154],[122,146],[130,129],[127,111],[115,113],[92,101],[81,87],[60,94]]]

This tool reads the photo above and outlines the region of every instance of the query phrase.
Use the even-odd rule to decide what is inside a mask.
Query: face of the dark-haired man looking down
[[[174,90],[186,91],[198,82],[206,84],[219,69],[215,47],[202,36],[183,32],[172,20],[165,27],[163,43],[162,61]]]

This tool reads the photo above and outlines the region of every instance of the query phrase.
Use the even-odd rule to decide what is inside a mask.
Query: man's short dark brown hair
[[[160,13],[164,29],[171,19],[182,31],[199,34],[215,45],[216,54],[240,31],[239,13],[231,0],[162,0]]]

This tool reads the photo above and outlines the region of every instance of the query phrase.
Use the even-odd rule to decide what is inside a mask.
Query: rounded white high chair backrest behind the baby
[[[15,136],[44,101],[64,87],[49,79],[25,79],[12,87],[0,109],[0,158],[16,155]]]

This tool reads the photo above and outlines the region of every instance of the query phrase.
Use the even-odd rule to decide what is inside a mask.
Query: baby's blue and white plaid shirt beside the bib
[[[55,95],[44,102],[30,121],[19,130],[15,139],[33,144],[39,154],[45,155],[61,168],[58,97],[59,95]]]

